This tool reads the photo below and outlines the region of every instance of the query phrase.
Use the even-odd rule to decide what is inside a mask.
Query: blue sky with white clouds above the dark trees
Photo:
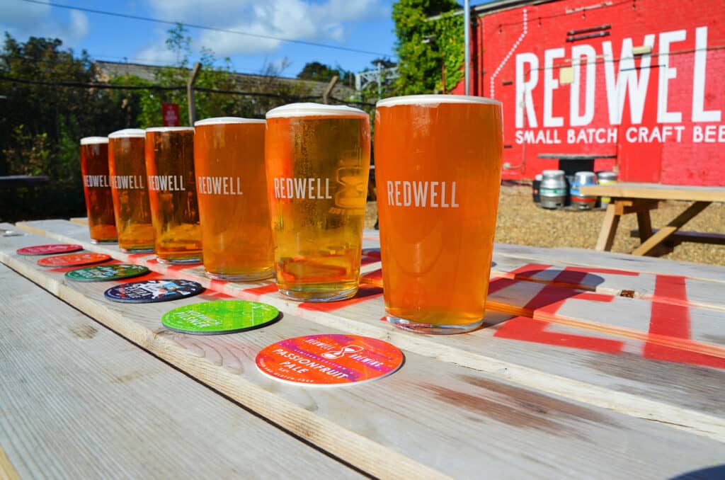
[[[46,0],[40,0],[46,1]],[[206,25],[281,38],[379,52],[394,59],[390,17],[393,0],[50,0],[54,4],[172,22]],[[60,38],[64,46],[86,49],[94,59],[171,65],[165,39],[170,25],[92,12],[0,0],[0,31],[18,41],[29,36]],[[265,65],[284,66],[294,77],[305,63],[318,61],[359,71],[374,54],[326,49],[252,36],[189,28],[194,54],[202,46],[218,59],[230,57],[233,70],[259,73]]]

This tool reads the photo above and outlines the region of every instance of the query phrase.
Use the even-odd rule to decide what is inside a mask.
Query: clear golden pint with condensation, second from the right
[[[265,160],[279,291],[310,302],[352,297],[370,169],[368,114],[321,104],[272,109]]]

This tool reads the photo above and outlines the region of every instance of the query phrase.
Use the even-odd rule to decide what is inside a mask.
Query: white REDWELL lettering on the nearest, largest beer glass
[[[394,207],[458,208],[455,182],[388,181],[387,187]]]

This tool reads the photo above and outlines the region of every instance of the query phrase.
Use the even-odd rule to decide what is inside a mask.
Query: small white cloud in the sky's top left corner
[[[74,47],[88,35],[88,17],[75,10],[51,17],[49,5],[0,1],[0,30],[19,41],[30,36],[60,38],[64,46]]]

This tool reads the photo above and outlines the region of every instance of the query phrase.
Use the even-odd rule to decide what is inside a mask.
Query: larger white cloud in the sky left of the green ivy
[[[344,44],[350,23],[388,15],[381,0],[147,0],[154,16],[196,25],[330,44]],[[194,49],[218,57],[267,54],[279,48],[274,38],[199,30]],[[159,48],[165,49],[165,45]],[[150,54],[150,52],[147,52]],[[162,52],[157,52],[161,57]]]

